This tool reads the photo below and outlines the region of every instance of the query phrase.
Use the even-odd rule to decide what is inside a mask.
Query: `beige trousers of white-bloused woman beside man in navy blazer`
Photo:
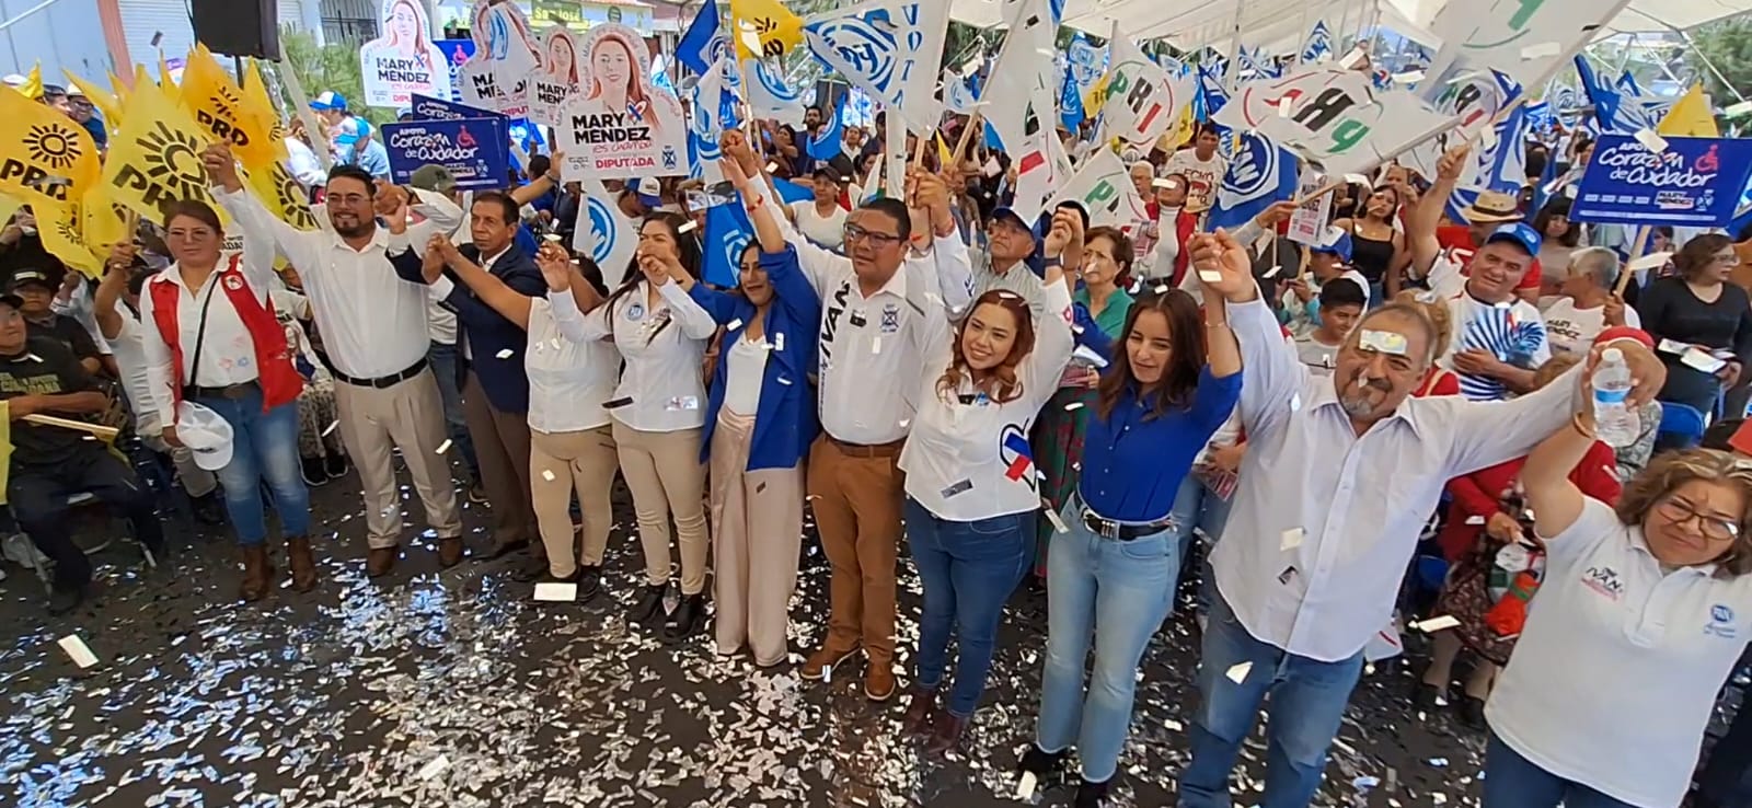
[[[571,542],[571,493],[583,512],[583,566],[603,566],[608,529],[615,522],[608,493],[615,486],[615,436],[608,426],[569,433],[529,429],[529,484],[536,526],[548,552],[548,573],[569,578],[578,571]]]

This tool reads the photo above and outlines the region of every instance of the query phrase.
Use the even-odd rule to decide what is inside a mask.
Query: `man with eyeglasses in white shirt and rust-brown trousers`
[[[739,131],[725,133],[724,154],[750,177],[762,177],[760,159]],[[880,198],[846,216],[844,256],[809,244],[783,216],[773,217],[781,237],[760,240],[766,252],[794,247],[822,296],[822,436],[809,452],[808,486],[834,570],[832,612],[827,640],[801,677],[825,680],[862,649],[864,696],[871,701],[895,692],[897,463],[916,408],[916,384],[902,380],[916,380],[927,351],[950,340],[946,310],[960,312],[972,301],[967,245],[950,210],[951,182],[916,174],[908,188],[916,210]],[[750,209],[766,203],[760,196],[746,202]],[[913,230],[915,212],[930,223],[929,233]]]

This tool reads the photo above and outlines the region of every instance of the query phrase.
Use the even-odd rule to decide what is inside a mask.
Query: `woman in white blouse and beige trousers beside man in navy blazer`
[[[562,247],[543,245],[536,266],[548,293],[571,294],[580,314],[601,305],[599,280],[592,282]],[[529,373],[529,486],[536,528],[547,547],[548,582],[578,584],[578,601],[589,601],[603,589],[603,554],[613,524],[608,493],[620,457],[603,403],[615,398],[620,354],[608,342],[561,338],[548,298],[526,296],[473,261],[456,261],[450,268],[482,301],[529,331],[524,370]],[[594,263],[590,275],[601,277]],[[583,514],[582,557],[573,547],[573,491]]]

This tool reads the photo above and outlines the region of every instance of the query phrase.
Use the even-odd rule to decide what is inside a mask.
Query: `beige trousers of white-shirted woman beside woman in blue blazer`
[[[632,491],[645,547],[645,578],[669,582],[669,517],[682,545],[682,594],[706,591],[706,464],[699,461],[701,429],[648,433],[615,421],[620,475]]]

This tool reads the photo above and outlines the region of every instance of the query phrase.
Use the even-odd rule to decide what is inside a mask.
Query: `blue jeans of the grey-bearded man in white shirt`
[[[1249,664],[1246,670],[1237,670]],[[1183,808],[1228,806],[1228,775],[1240,743],[1253,733],[1260,703],[1272,698],[1267,724],[1261,808],[1305,808],[1326,769],[1351,691],[1363,675],[1363,652],[1339,663],[1298,657],[1254,640],[1228,603],[1211,603],[1198,659],[1198,705],[1191,727],[1193,759],[1181,773]],[[1242,677],[1237,684],[1233,677]]]

